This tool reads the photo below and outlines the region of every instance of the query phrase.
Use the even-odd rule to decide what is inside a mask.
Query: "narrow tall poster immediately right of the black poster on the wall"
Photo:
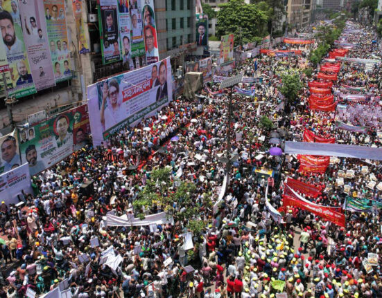
[[[121,39],[121,56],[123,65],[127,64],[130,71],[134,69],[131,55],[131,19],[129,0],[118,0],[119,37]]]

